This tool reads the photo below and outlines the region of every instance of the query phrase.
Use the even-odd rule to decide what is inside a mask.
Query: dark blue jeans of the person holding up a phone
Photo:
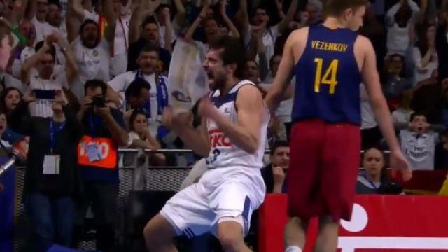
[[[25,210],[31,224],[31,248],[45,252],[52,244],[71,245],[74,202],[71,197],[49,197],[38,192],[25,195]]]

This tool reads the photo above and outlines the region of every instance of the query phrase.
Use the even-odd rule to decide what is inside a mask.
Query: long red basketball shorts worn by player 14
[[[359,164],[359,126],[323,120],[295,123],[287,176],[289,215],[349,221]]]

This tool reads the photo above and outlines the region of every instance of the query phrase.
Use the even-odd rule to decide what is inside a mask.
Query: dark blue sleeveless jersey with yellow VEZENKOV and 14
[[[360,125],[362,78],[353,50],[357,37],[350,29],[309,27],[307,46],[294,68],[294,122]]]

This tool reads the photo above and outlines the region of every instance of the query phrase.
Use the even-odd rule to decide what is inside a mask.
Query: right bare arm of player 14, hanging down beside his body
[[[391,112],[388,109],[386,98],[384,98],[381,90],[374,48],[372,43],[364,36],[358,36],[355,43],[355,55],[358,66],[361,69],[367,94],[369,95],[372,111],[391,150],[392,166],[402,170],[405,179],[410,179],[412,172],[409,163],[402,155],[398,139],[395,136],[395,130],[393,129]]]

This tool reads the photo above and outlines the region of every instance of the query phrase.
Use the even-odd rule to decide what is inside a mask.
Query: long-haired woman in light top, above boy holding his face
[[[415,65],[415,83],[430,78],[438,68],[437,50],[435,49],[435,25],[427,25],[419,33],[419,41],[413,51]]]

